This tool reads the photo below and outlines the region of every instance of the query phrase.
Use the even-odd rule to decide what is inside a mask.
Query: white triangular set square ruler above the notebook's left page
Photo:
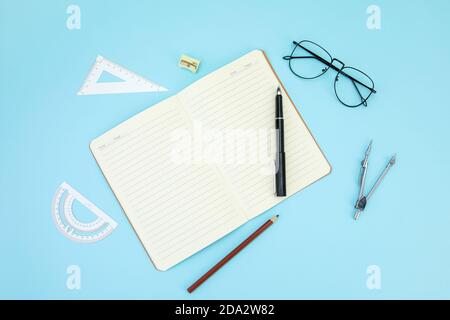
[[[103,72],[122,79],[119,82],[98,82]],[[135,93],[135,92],[162,92],[166,88],[153,83],[124,67],[97,56],[83,86],[78,95],[111,94],[111,93]]]

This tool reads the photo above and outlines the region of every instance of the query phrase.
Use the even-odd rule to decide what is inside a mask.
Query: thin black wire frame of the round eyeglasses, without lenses
[[[319,56],[318,54],[316,54],[316,53],[312,52],[311,50],[309,50],[308,48],[302,46],[302,45],[301,45],[302,42],[309,42],[309,43],[312,43],[312,44],[318,46],[319,48],[321,48],[323,51],[325,51],[325,52],[328,54],[328,56],[331,58],[331,61],[328,62],[327,60],[325,60],[324,58],[322,58],[322,57]],[[335,77],[335,79],[334,79],[334,93],[335,93],[336,97],[338,98],[339,102],[341,102],[341,103],[342,103],[343,105],[345,105],[346,107],[349,107],[349,108],[357,108],[357,107],[359,107],[359,106],[361,106],[361,105],[364,105],[365,107],[367,107],[367,100],[370,98],[370,96],[371,96],[372,94],[377,93],[377,91],[375,90],[375,83],[373,82],[373,80],[372,80],[371,77],[369,77],[365,72],[363,72],[363,71],[361,71],[361,70],[359,70],[359,69],[356,69],[356,68],[354,68],[354,67],[347,67],[347,66],[345,66],[345,63],[343,63],[341,60],[339,60],[339,59],[337,59],[337,58],[333,58],[333,57],[331,56],[331,54],[330,54],[325,48],[323,48],[321,45],[319,45],[319,44],[317,44],[317,43],[315,43],[315,42],[313,42],[313,41],[310,41],[310,40],[302,40],[302,41],[300,41],[300,42],[292,41],[292,43],[295,44],[295,47],[294,47],[294,50],[292,50],[291,55],[290,55],[290,56],[284,56],[284,57],[283,57],[284,60],[288,60],[288,61],[289,61],[289,69],[291,69],[292,73],[295,74],[297,77],[299,77],[299,78],[301,78],[301,79],[316,79],[316,78],[318,78],[318,77],[320,77],[320,76],[323,76],[323,75],[328,71],[329,68],[333,69],[334,71],[337,72],[336,77]],[[297,49],[297,47],[302,48],[303,50],[305,50],[306,52],[308,52],[309,54],[311,54],[311,56],[293,56],[292,54],[293,54],[294,51]],[[322,71],[323,71],[323,70],[325,70],[325,71],[323,71],[321,74],[319,74],[319,75],[317,75],[317,76],[315,76],[315,77],[306,78],[306,77],[300,76],[299,74],[297,74],[297,73],[292,69],[290,60],[291,60],[291,59],[308,59],[308,58],[314,58],[314,59],[319,60],[320,62],[322,62],[323,64],[325,64],[325,65],[327,66],[327,68],[326,68],[326,69],[322,69]],[[333,64],[333,62],[335,62],[335,61],[339,62],[339,63],[342,65],[340,69],[339,69],[338,67],[336,67],[336,66]],[[361,81],[359,81],[358,79],[355,79],[355,78],[352,77],[351,75],[347,74],[346,72],[343,71],[344,68],[353,69],[353,70],[356,70],[356,71],[358,71],[358,72],[361,72],[363,75],[365,75],[365,76],[372,82],[373,87],[370,88],[370,87],[368,87],[367,85],[365,85],[364,83],[362,83]],[[355,86],[356,91],[358,92],[358,94],[359,94],[359,96],[360,96],[360,98],[361,98],[361,100],[362,100],[360,104],[355,105],[355,106],[351,106],[351,105],[346,104],[345,102],[343,102],[343,101],[339,98],[339,95],[337,94],[337,91],[336,91],[336,82],[338,81],[339,75],[340,75],[340,74],[342,74],[343,76],[347,77],[348,79],[350,79],[350,80],[352,81],[353,85]],[[366,89],[368,89],[368,90],[370,91],[369,95],[368,95],[365,99],[362,97],[361,92],[359,91],[359,89],[358,89],[358,87],[356,86],[355,82],[358,83],[358,84],[360,84],[360,85],[362,85],[363,87],[365,87]]]

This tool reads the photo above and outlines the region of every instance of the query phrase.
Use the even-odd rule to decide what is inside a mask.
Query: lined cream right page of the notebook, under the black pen
[[[255,50],[179,94],[192,121],[201,126],[203,132],[208,129],[223,132],[223,158],[226,160],[220,169],[249,219],[285,199],[274,195],[273,138],[278,86],[263,53]],[[285,92],[283,96],[290,196],[329,173],[330,166]],[[240,144],[236,142],[239,139],[233,142],[230,132],[237,133]],[[265,136],[272,138],[272,143],[267,143],[270,139]],[[219,145],[217,141],[216,145]],[[246,145],[244,152],[242,145]],[[234,163],[230,157],[233,149],[238,159]]]

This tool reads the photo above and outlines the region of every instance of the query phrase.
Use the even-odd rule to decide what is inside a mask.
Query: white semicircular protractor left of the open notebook
[[[92,222],[79,221],[73,213],[75,201],[79,201],[89,209],[96,218]],[[89,243],[101,240],[117,227],[117,222],[66,182],[56,190],[52,215],[58,230],[70,240],[77,242]]]

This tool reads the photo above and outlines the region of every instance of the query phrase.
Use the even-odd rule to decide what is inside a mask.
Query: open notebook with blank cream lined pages
[[[92,141],[95,159],[157,269],[167,270],[285,199],[274,196],[273,172],[248,143],[261,145],[259,154],[274,154],[273,144],[261,137],[273,132],[277,86],[281,83],[264,52],[254,50]],[[290,196],[331,167],[282,91]],[[185,161],[187,149],[180,145],[189,146],[196,131],[204,138],[208,128],[259,132],[259,138],[237,134],[235,143],[224,138],[214,149],[219,140],[211,136],[218,136],[209,133],[210,154],[231,145],[235,161],[229,155],[206,161],[198,156],[202,150],[192,150],[198,143],[191,143],[194,160]],[[177,152],[184,157],[177,158]]]

